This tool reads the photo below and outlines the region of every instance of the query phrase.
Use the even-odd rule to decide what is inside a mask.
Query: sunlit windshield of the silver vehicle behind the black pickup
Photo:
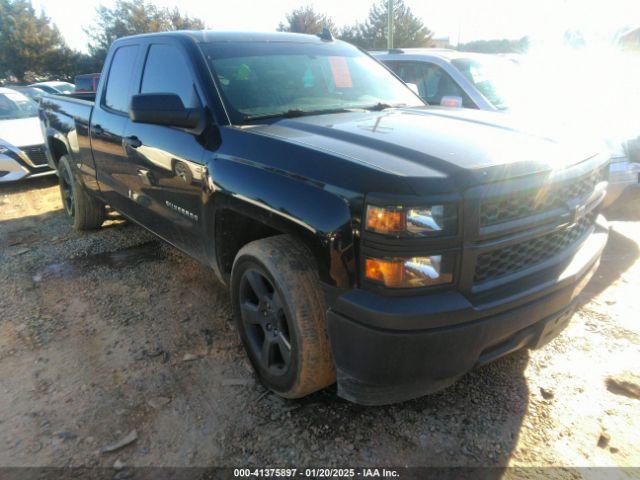
[[[456,58],[451,63],[494,107],[499,110],[509,108],[511,91],[519,83],[517,63],[502,58]]]

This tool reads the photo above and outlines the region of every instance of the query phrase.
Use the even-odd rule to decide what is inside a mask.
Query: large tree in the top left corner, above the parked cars
[[[29,0],[0,0],[0,78],[67,78],[74,52]]]

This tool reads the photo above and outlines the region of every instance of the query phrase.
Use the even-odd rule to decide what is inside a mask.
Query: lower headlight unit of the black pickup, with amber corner
[[[365,259],[365,277],[389,288],[418,288],[453,281],[454,257],[431,255],[411,258]]]

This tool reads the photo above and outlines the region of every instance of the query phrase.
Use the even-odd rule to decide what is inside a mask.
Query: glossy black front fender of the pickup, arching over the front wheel
[[[207,254],[224,283],[244,245],[289,234],[307,246],[322,282],[354,285],[356,255],[346,198],[305,180],[236,162],[225,162],[215,173],[207,179],[214,187],[212,201],[205,203],[211,210],[205,211],[207,238],[214,238]],[[247,178],[251,182],[243,181]]]

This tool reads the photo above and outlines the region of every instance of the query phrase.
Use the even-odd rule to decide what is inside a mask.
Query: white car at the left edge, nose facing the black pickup
[[[55,173],[47,165],[38,105],[10,88],[0,88],[0,183]]]

